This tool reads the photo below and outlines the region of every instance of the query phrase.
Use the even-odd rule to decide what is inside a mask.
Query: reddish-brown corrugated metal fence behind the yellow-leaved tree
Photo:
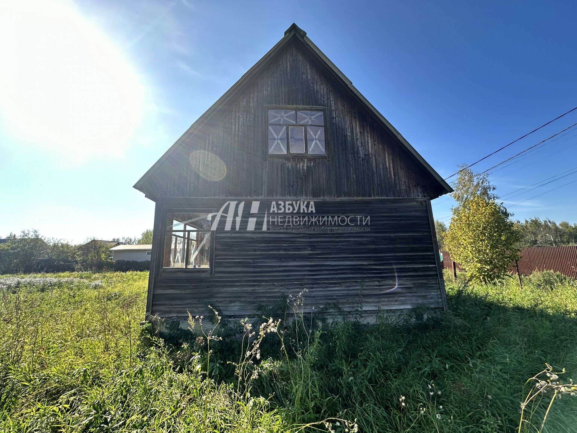
[[[443,268],[452,269],[451,255],[447,251],[443,251]],[[458,263],[456,268],[459,271],[463,270]],[[517,273],[515,266],[509,270]],[[519,273],[531,275],[537,271],[555,271],[577,278],[577,246],[523,248],[519,260]]]

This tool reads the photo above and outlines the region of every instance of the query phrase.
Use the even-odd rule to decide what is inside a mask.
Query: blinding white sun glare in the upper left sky
[[[0,123],[17,143],[83,161],[122,156],[144,85],[72,2],[0,0]]]

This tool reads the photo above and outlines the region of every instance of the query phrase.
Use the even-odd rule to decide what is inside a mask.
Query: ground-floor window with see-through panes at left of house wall
[[[213,232],[207,214],[167,212],[165,268],[211,268]]]

